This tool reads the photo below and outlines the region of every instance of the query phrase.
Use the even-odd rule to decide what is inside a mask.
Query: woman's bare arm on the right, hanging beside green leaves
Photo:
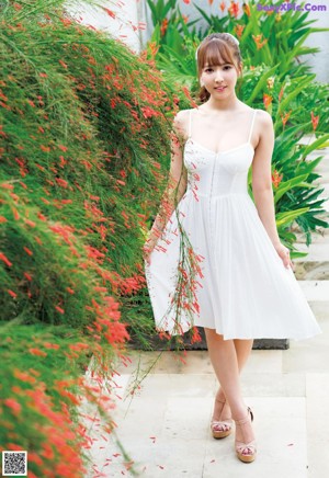
[[[262,110],[258,111],[259,144],[252,161],[252,194],[258,215],[284,265],[293,266],[288,249],[280,241],[275,223],[275,207],[272,190],[272,153],[274,149],[274,127],[271,115]]]

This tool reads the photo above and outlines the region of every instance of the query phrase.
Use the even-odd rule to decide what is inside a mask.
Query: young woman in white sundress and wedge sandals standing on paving
[[[236,95],[242,71],[239,42],[228,33],[214,33],[203,39],[196,54],[202,104],[180,111],[173,121],[166,206],[144,247],[145,271],[157,329],[178,333],[170,304],[177,287],[181,230],[202,258],[193,323],[181,311],[180,331],[204,327],[220,384],[211,423],[213,436],[228,436],[234,420],[237,456],[252,462],[257,453],[253,416],[245,405],[239,374],[253,339],[305,339],[320,329],[276,230],[272,118]],[[180,136],[184,147],[175,139]],[[254,202],[248,194],[250,167]]]

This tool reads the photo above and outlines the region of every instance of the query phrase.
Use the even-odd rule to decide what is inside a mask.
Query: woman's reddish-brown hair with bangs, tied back
[[[239,69],[242,64],[241,53],[238,42],[227,33],[211,33],[200,44],[197,48],[197,79],[202,75],[205,64],[215,66],[222,64],[231,64]],[[205,87],[201,87],[198,99],[204,103],[211,96]]]

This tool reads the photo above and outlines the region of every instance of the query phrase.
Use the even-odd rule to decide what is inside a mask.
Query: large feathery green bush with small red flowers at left
[[[137,293],[147,307],[141,244],[179,98],[146,55],[60,2],[9,2],[1,15],[0,446],[27,451],[31,477],[81,477],[83,403],[111,433],[101,378],[149,327],[129,310]]]

